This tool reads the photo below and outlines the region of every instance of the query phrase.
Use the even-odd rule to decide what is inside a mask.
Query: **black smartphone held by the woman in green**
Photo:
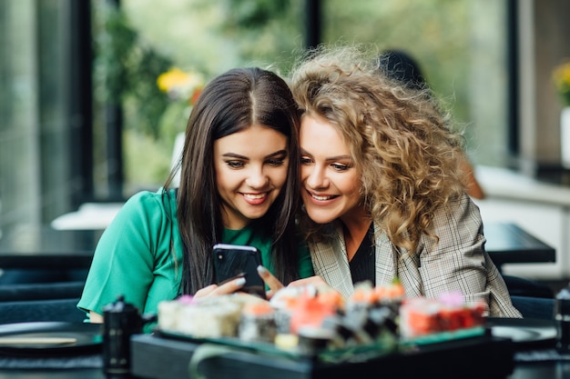
[[[240,244],[215,244],[214,269],[216,283],[223,284],[240,276],[246,279],[241,291],[265,299],[265,282],[258,274],[261,253],[257,247]]]

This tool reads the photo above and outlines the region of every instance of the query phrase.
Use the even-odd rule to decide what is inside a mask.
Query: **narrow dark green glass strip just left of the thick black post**
[[[31,141],[36,150],[34,159],[41,195],[41,214],[49,223],[58,214],[66,212],[68,197],[73,191],[69,159],[70,133],[69,80],[71,77],[71,30],[69,28],[69,1],[47,0],[37,3],[37,57],[38,73],[37,136]],[[57,43],[55,43],[57,42]],[[77,95],[75,95],[77,96]],[[79,126],[79,125],[77,125]]]

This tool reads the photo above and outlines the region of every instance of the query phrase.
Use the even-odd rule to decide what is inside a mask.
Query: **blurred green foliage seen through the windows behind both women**
[[[473,124],[477,117],[470,104],[471,65],[483,65],[480,59],[473,60],[473,35],[476,30],[494,30],[486,48],[501,52],[501,46],[493,45],[501,43],[494,42],[494,35],[502,33],[502,25],[494,17],[504,14],[502,3],[326,0],[321,9],[321,39],[409,52],[420,61],[435,93],[453,108],[458,123]],[[300,0],[122,0],[118,7],[107,1],[93,4],[97,100],[101,104],[117,100],[123,107],[127,193],[164,181],[174,135],[186,127],[184,108],[158,90],[158,75],[177,66],[208,80],[239,65],[261,65],[286,75],[304,43],[305,7]],[[484,25],[475,25],[479,14],[487,15]],[[494,21],[499,21],[498,25]],[[504,59],[501,54],[489,55],[490,62],[485,65],[494,67],[490,70],[494,75],[504,77]],[[492,111],[491,119],[505,124],[505,115],[497,115],[501,109]],[[468,128],[467,135],[475,132]],[[476,150],[477,143],[469,140]]]

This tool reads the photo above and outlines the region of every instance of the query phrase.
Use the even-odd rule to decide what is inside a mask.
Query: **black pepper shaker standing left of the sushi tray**
[[[132,304],[118,296],[103,308],[103,370],[107,378],[130,377],[130,337],[141,334],[143,319]]]

